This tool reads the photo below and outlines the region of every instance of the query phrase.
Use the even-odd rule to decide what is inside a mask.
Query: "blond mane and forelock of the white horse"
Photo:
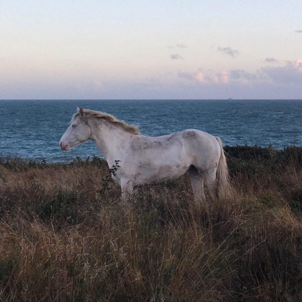
[[[109,123],[113,123],[119,127],[121,127],[122,129],[124,129],[125,131],[131,133],[131,134],[140,134],[140,131],[138,130],[138,127],[135,125],[128,125],[126,124],[123,120],[118,120],[116,117],[114,117],[111,114],[102,112],[102,111],[95,111],[95,110],[89,110],[89,109],[83,109],[84,110],[84,114],[85,117],[87,118],[102,118],[104,120],[107,120]],[[74,121],[76,117],[78,117],[80,115],[80,112],[76,112],[71,121]]]

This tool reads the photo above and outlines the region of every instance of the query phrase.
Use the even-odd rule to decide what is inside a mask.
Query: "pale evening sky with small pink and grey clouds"
[[[1,0],[0,99],[302,99],[301,0]]]

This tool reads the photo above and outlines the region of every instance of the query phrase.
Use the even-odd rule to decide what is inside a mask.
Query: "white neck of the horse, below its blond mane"
[[[133,134],[104,120],[95,120],[90,123],[90,128],[91,139],[109,166],[114,163],[114,160],[120,160],[122,151]]]

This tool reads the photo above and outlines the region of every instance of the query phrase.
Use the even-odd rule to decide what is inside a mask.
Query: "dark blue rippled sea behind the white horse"
[[[91,141],[59,148],[76,106],[111,113],[143,135],[196,128],[228,145],[302,145],[300,100],[14,100],[0,101],[0,154],[48,162],[100,156]]]

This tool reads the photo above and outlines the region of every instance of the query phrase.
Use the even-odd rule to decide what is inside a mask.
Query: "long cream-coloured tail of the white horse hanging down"
[[[215,137],[220,146],[220,158],[218,162],[216,181],[217,181],[217,196],[223,198],[230,193],[229,172],[226,165],[226,157],[222,147],[222,142],[219,137]]]

